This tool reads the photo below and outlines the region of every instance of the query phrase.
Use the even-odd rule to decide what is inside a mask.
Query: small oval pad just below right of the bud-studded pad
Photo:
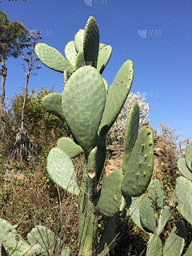
[[[150,196],[154,200],[154,203],[158,207],[163,207],[164,202],[164,192],[162,183],[158,179],[154,179],[150,182]]]

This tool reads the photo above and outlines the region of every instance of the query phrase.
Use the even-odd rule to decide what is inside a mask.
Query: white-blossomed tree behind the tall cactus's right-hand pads
[[[138,102],[140,109],[140,118],[139,118],[139,130],[142,128],[142,124],[146,122],[146,118],[149,117],[149,104],[144,102],[144,98],[141,98],[142,95],[137,93],[130,93],[126,98],[126,102],[122,107],[122,111],[118,115],[118,118],[114,122],[114,125],[110,128],[108,134],[108,144],[113,145],[122,145],[125,140],[125,131],[126,131],[126,120],[130,110],[130,106],[134,102]]]

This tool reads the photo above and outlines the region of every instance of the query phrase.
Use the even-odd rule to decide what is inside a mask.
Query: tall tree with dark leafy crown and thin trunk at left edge
[[[4,116],[4,101],[5,101],[5,82],[6,82],[6,59],[10,56],[18,58],[21,50],[25,47],[27,41],[26,35],[29,31],[23,26],[22,22],[10,22],[4,11],[0,11],[0,62],[2,69],[0,70],[1,98],[0,98],[0,115]]]

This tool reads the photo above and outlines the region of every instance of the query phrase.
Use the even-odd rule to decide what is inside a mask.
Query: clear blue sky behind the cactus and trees
[[[85,27],[89,16],[98,22],[100,42],[113,52],[102,77],[109,85],[123,62],[134,62],[131,91],[139,91],[150,105],[150,125],[174,126],[183,138],[192,136],[192,1],[191,0],[2,0],[0,9],[10,21],[38,29],[42,40],[62,54],[66,42]],[[22,57],[9,58],[6,98],[25,86]],[[41,63],[39,62],[39,65]],[[40,86],[62,91],[61,73],[42,66],[30,78],[29,89]]]

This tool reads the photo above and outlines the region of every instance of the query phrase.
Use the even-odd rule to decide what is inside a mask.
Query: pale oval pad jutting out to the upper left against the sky
[[[40,61],[52,70],[64,72],[69,70],[70,73],[74,71],[74,66],[67,62],[66,58],[53,47],[47,46],[46,43],[38,43],[35,46],[35,54],[37,54]]]

